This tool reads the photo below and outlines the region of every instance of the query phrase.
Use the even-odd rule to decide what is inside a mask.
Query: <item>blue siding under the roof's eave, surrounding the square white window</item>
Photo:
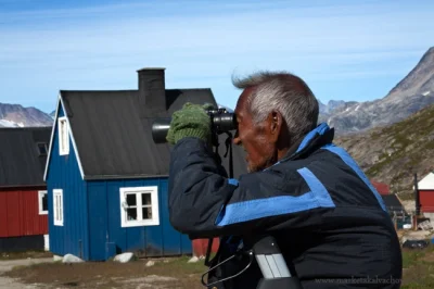
[[[122,227],[120,188],[158,187],[159,225]],[[140,256],[191,254],[192,243],[176,231],[168,215],[166,178],[88,181],[90,221],[90,257],[105,255],[105,242],[114,243],[116,253],[133,251]]]

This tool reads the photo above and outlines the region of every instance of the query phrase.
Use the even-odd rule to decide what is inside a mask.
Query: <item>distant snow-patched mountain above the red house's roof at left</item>
[[[53,118],[35,108],[0,103],[0,127],[51,126]]]

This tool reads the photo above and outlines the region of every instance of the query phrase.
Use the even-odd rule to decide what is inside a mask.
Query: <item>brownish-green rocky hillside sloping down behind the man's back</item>
[[[370,178],[388,184],[394,193],[410,193],[413,173],[421,179],[434,169],[434,104],[393,125],[336,137],[335,143]]]

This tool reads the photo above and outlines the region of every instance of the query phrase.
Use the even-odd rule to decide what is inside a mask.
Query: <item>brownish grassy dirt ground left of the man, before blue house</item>
[[[22,288],[204,288],[201,276],[206,271],[203,262],[187,263],[189,257],[149,260],[130,263],[85,262],[63,264],[49,262],[17,266],[3,273],[3,278],[15,278]]]

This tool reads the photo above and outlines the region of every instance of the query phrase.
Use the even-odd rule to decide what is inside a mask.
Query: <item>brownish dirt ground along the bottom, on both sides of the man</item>
[[[434,244],[422,250],[403,250],[403,289],[434,288]],[[139,259],[130,263],[85,262],[64,264],[53,259],[0,260],[0,289],[202,289],[203,261],[188,263],[189,256]],[[10,269],[9,272],[7,272]]]

